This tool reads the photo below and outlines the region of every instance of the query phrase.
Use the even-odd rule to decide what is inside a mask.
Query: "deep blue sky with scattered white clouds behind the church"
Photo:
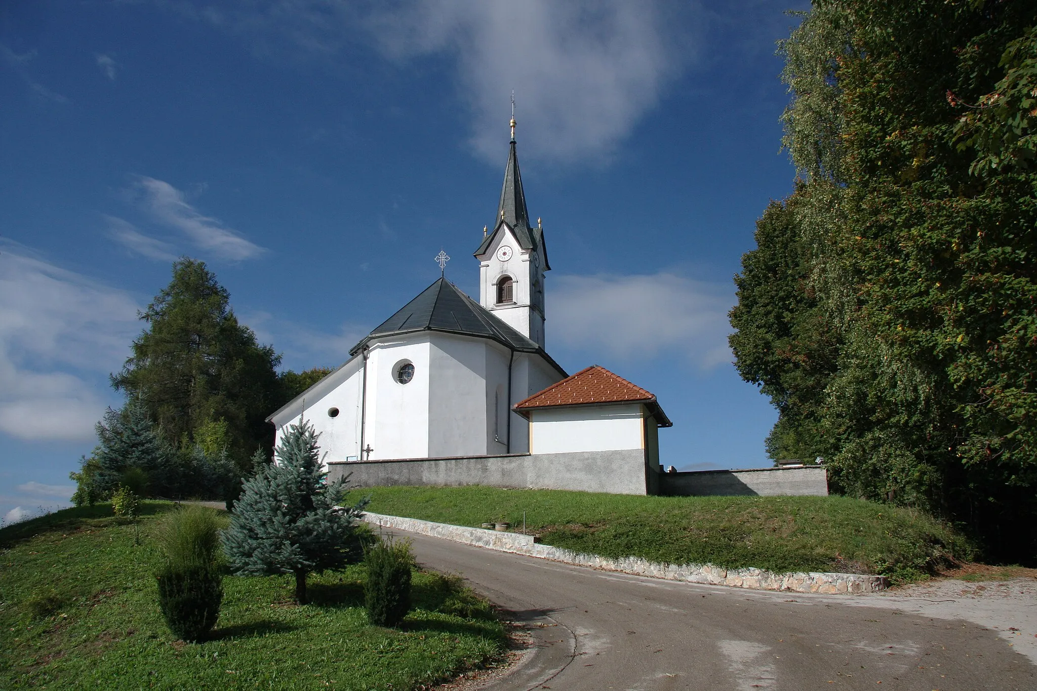
[[[7,0],[0,516],[66,499],[176,256],[297,371],[343,362],[441,248],[477,295],[512,89],[549,352],[655,393],[666,464],[768,465],[726,313],[792,185],[774,52],[796,4]]]

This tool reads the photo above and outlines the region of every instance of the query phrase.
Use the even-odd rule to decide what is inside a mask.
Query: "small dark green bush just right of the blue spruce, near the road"
[[[396,626],[411,610],[411,542],[379,540],[364,554],[367,618],[375,626]]]

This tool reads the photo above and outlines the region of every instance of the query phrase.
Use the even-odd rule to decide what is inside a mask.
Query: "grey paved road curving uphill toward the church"
[[[1037,689],[1037,667],[964,621],[608,574],[399,534],[419,562],[460,573],[530,624],[534,654],[495,690]]]

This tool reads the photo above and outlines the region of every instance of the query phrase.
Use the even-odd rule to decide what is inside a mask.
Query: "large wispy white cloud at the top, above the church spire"
[[[367,19],[387,55],[456,60],[473,144],[492,161],[513,89],[524,148],[599,159],[658,103],[697,44],[685,9],[651,0],[398,2]]]

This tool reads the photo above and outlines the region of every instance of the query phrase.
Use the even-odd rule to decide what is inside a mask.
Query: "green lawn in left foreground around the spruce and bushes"
[[[0,529],[0,688],[415,689],[494,660],[503,628],[456,578],[420,572],[400,630],[367,624],[362,566],[310,577],[224,579],[209,640],[173,641],[159,612],[148,531],[111,507]]]

